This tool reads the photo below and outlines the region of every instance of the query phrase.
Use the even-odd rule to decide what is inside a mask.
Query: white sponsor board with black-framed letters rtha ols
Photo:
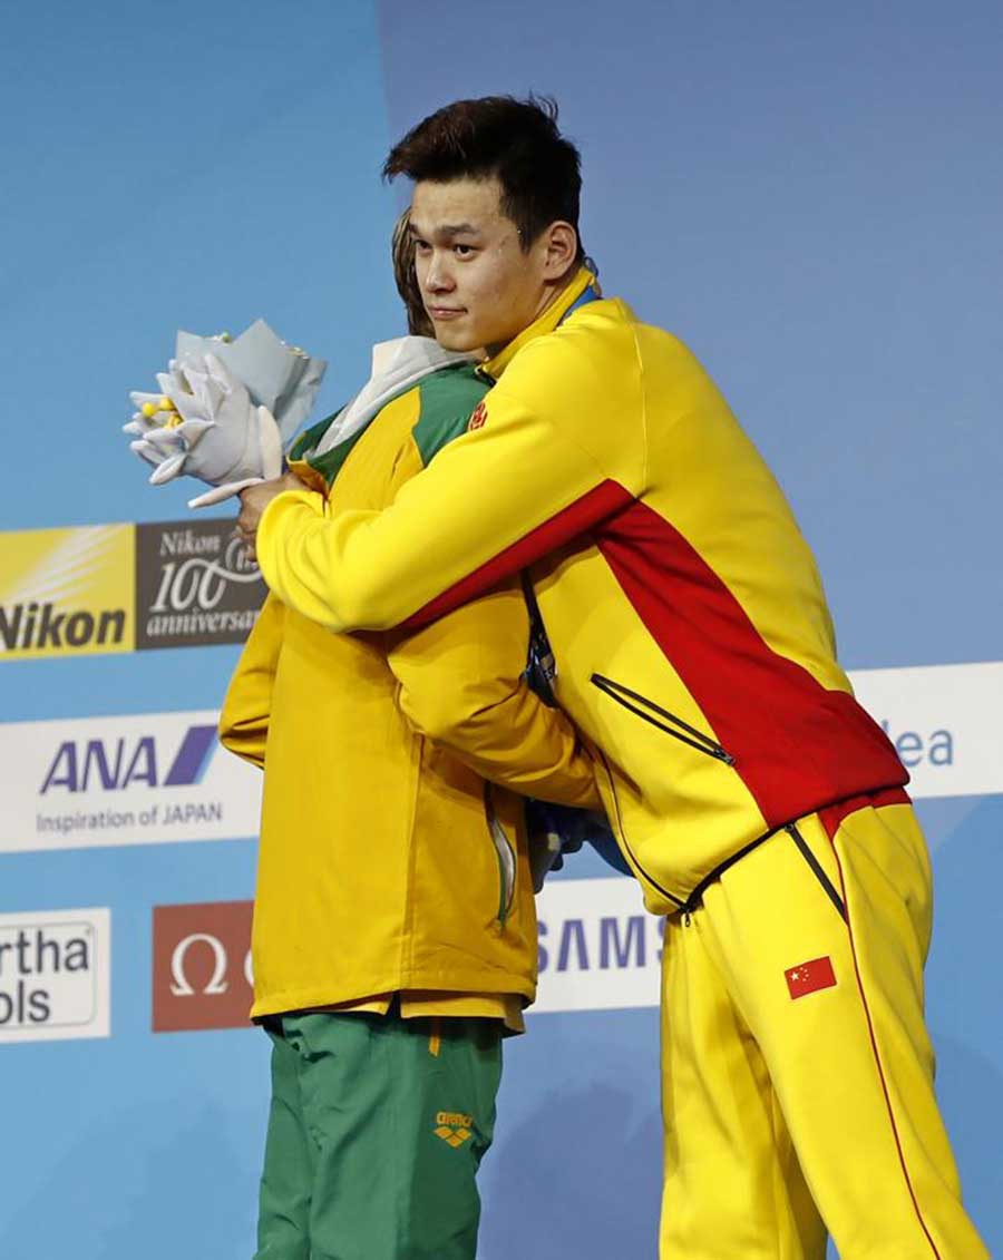
[[[111,911],[0,915],[0,1046],[111,1032]]]

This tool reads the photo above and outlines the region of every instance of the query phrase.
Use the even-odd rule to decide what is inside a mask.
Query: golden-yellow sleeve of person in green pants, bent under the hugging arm
[[[518,582],[398,638],[387,660],[422,735],[483,779],[525,796],[602,809],[592,759],[561,709],[522,677],[529,615]]]

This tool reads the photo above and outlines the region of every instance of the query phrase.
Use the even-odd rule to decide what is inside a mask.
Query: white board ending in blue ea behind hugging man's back
[[[914,799],[1003,793],[1003,662],[859,669],[851,680],[908,769]]]

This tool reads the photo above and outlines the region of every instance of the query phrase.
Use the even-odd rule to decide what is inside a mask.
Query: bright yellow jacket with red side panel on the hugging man
[[[387,510],[280,495],[258,556],[335,631],[425,625],[532,566],[557,697],[665,914],[759,837],[907,774],[752,442],[675,338],[616,299],[568,314],[592,278],[483,365],[470,431]]]

